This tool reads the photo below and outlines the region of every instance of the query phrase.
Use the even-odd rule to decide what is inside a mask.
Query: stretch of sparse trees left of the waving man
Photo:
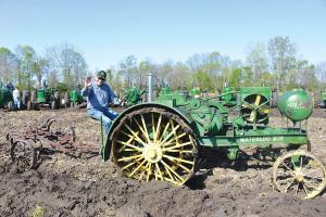
[[[87,74],[84,56],[72,44],[46,48],[43,55],[30,46],[17,46],[14,52],[0,48],[0,79],[21,90],[41,87],[45,81],[49,87],[71,89]]]

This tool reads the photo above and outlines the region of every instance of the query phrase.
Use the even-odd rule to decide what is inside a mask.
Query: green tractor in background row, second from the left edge
[[[30,100],[27,102],[27,110],[39,107],[60,108],[60,92],[54,88],[40,88],[32,91]]]

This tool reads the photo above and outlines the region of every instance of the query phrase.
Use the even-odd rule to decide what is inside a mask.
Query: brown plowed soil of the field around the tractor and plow
[[[75,127],[77,141],[100,143],[99,123],[85,111],[0,111],[0,216],[326,216],[326,194],[309,201],[275,191],[271,167],[251,163],[236,167],[225,161],[201,168],[188,186],[141,183],[120,175],[99,156],[88,159],[48,154],[36,170],[20,174],[9,157],[5,133],[52,117],[53,128]],[[326,118],[317,110],[308,124],[312,153],[326,165]],[[274,126],[286,126],[274,111]],[[240,163],[241,165],[241,163]]]

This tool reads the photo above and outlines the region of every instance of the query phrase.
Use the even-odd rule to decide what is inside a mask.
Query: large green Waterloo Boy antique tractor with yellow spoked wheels
[[[229,161],[241,156],[276,159],[272,177],[281,192],[311,199],[324,190],[326,170],[308,152],[311,146],[302,123],[311,116],[313,102],[303,90],[288,91],[278,100],[280,113],[293,124],[286,128],[267,126],[271,88],[241,88],[236,116],[215,98],[220,95],[171,98],[125,110],[102,143],[102,158],[111,157],[130,178],[180,186],[191,178],[199,156],[210,148]]]

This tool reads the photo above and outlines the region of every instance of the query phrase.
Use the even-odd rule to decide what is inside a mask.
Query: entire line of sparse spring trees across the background
[[[105,71],[108,81],[118,92],[133,85],[146,88],[149,72],[153,74],[155,87],[167,85],[172,89],[199,87],[214,91],[228,85],[316,91],[326,87],[326,62],[312,64],[300,58],[298,46],[281,36],[251,47],[244,61],[220,52],[193,54],[185,62],[163,63],[138,61],[135,55],[128,55]],[[0,78],[13,81],[20,89],[41,86],[42,80],[50,87],[71,89],[89,73],[84,56],[72,44],[47,48],[45,55],[37,54],[30,46],[18,46],[15,52],[0,48]]]

